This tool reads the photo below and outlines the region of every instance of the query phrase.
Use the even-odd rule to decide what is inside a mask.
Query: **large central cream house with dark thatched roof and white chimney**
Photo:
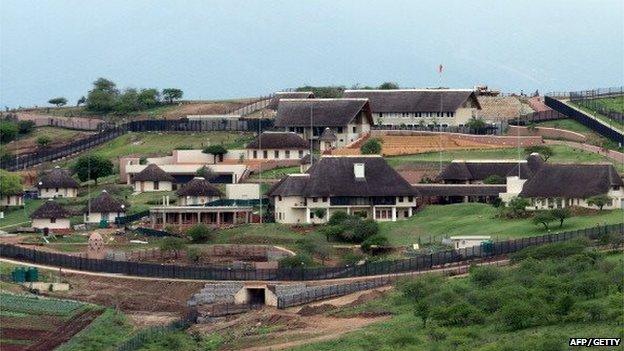
[[[377,221],[411,217],[416,192],[375,156],[324,156],[307,173],[284,177],[269,191],[279,223],[325,223],[336,212]]]

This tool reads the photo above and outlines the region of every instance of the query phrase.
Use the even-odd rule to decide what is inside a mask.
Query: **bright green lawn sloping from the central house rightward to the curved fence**
[[[394,245],[411,245],[418,238],[428,242],[430,236],[440,239],[452,235],[491,235],[502,239],[548,234],[530,219],[500,219],[495,217],[496,213],[497,209],[487,204],[432,205],[409,219],[381,222],[379,227]],[[624,222],[624,210],[605,210],[596,215],[569,218],[562,228],[557,224],[551,227],[554,233],[621,222]]]

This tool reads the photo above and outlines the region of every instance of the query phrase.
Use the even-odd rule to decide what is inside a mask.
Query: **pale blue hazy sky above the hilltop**
[[[444,66],[440,77],[438,66]],[[0,106],[119,88],[624,85],[624,1],[0,0]]]

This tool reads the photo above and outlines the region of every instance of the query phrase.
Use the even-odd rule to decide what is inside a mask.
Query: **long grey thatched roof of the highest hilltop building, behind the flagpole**
[[[371,110],[379,112],[454,112],[467,100],[481,108],[472,90],[397,89],[345,90],[345,98],[366,98]]]

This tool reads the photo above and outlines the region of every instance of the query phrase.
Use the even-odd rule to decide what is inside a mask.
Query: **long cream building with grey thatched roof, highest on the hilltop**
[[[345,90],[344,97],[368,99],[384,126],[463,126],[481,109],[471,89]]]

